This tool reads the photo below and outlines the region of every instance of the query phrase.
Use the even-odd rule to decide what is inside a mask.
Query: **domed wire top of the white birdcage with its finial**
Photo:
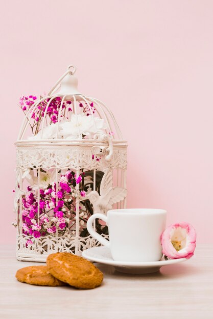
[[[88,144],[100,135],[115,144],[126,143],[107,105],[78,91],[75,72],[69,65],[47,96],[28,100],[16,144]]]

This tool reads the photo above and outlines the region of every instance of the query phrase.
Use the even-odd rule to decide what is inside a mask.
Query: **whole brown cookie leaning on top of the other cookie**
[[[93,263],[72,253],[51,254],[46,264],[54,277],[76,288],[92,289],[103,281],[103,273]]]

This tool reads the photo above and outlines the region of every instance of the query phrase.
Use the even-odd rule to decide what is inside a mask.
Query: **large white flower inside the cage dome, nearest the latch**
[[[60,123],[60,134],[64,139],[76,140],[82,139],[83,135],[90,138],[93,134],[103,133],[105,128],[103,119],[92,115],[73,114],[69,121]]]

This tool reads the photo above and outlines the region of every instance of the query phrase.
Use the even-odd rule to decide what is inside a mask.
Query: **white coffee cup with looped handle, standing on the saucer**
[[[117,261],[157,261],[162,257],[160,235],[165,229],[167,211],[152,208],[112,209],[94,214],[87,221],[88,232],[108,247]],[[108,225],[109,241],[93,229],[93,221]]]

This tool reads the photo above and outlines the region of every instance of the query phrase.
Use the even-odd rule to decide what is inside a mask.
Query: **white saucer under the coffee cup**
[[[164,259],[159,261],[146,261],[146,262],[130,262],[130,261],[115,261],[112,259],[109,248],[105,246],[93,247],[86,249],[82,252],[82,257],[112,265],[117,271],[128,274],[149,274],[155,273],[160,270],[160,267],[178,263],[187,260],[187,258],[178,259]]]

